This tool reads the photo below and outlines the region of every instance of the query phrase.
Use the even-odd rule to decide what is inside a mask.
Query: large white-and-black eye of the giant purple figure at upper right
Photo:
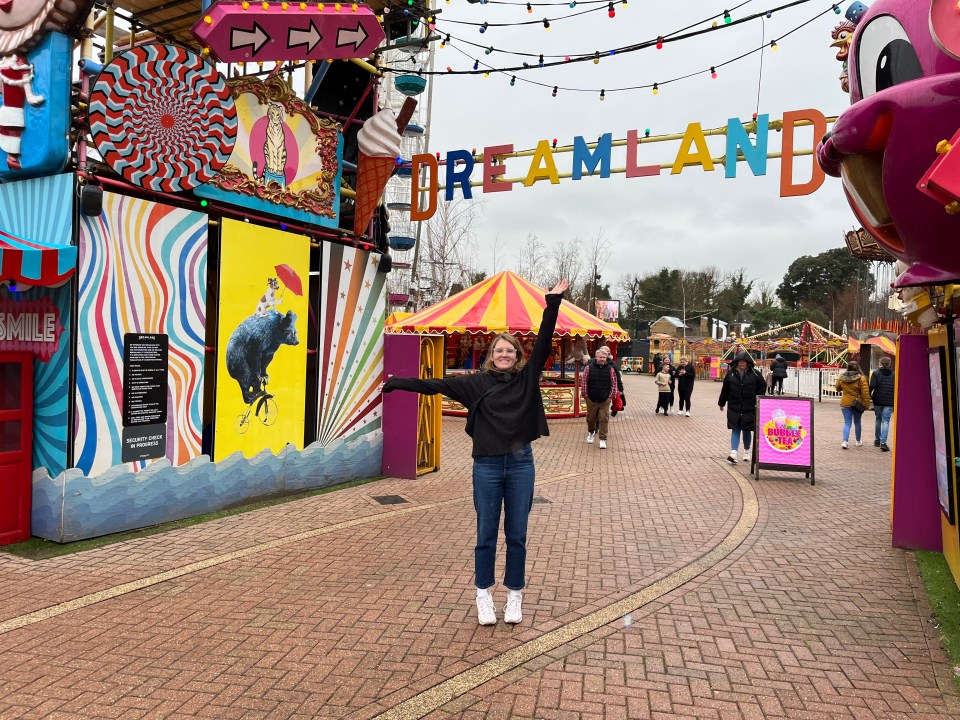
[[[878,15],[857,41],[857,79],[861,97],[923,77],[920,59],[903,25],[891,15]]]

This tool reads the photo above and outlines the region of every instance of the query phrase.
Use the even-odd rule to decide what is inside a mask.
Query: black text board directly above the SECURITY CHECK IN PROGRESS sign
[[[166,335],[126,333],[123,336],[123,425],[166,425]]]

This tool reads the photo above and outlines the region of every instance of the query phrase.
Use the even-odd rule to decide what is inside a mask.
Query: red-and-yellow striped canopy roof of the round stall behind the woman
[[[536,334],[546,305],[546,290],[509,270],[468,287],[446,300],[390,323],[388,333]],[[628,342],[630,335],[566,300],[560,306],[555,334],[605,337]]]

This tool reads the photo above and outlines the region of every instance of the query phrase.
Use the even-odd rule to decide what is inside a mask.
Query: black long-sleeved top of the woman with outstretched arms
[[[412,390],[423,395],[443,394],[467,408],[467,434],[473,438],[473,457],[516,452],[550,434],[540,395],[540,372],[550,357],[562,295],[546,296],[537,342],[519,372],[489,372],[421,380],[392,377],[384,392]],[[491,392],[484,395],[488,390]],[[481,399],[482,396],[482,399]]]

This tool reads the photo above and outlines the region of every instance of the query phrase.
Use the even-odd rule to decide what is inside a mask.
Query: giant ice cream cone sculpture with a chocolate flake
[[[357,196],[353,210],[354,235],[363,235],[370,225],[373,211],[397,166],[400,136],[416,107],[417,101],[407,98],[399,117],[394,116],[389,108],[384,108],[364,122],[357,134],[360,160],[357,163]]]

